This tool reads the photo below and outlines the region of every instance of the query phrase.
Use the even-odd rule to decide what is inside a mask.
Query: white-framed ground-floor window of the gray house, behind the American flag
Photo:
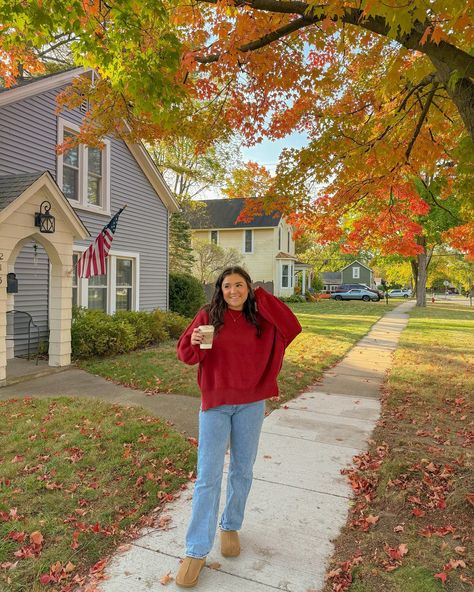
[[[113,314],[117,310],[138,310],[139,254],[111,251],[107,257],[107,274],[78,278],[77,260],[73,255],[72,303],[92,310]]]

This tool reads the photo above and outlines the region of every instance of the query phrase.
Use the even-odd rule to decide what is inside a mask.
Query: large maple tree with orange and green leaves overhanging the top
[[[252,144],[304,131],[308,146],[283,152],[255,207],[293,214],[318,240],[340,240],[347,251],[364,245],[418,256],[417,218],[461,179],[468,189],[459,199],[466,206],[473,198],[473,7],[91,0],[64,11],[59,0],[11,0],[2,7],[10,25],[0,34],[10,56],[3,76],[10,81],[20,62],[37,67],[31,47],[51,46],[62,31],[74,36],[76,63],[100,74],[63,98],[69,106],[91,99],[85,140],[110,131],[156,139],[185,127],[212,142],[232,128]],[[416,190],[414,180],[426,176],[444,180],[436,202]],[[322,196],[311,200],[315,185]],[[473,254],[472,210],[464,206],[444,238]]]

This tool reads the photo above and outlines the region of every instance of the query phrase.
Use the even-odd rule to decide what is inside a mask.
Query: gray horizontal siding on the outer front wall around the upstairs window
[[[0,107],[0,175],[49,170],[56,178],[57,91]],[[78,110],[60,117],[79,124]],[[112,248],[140,255],[141,310],[168,306],[168,211],[126,144],[111,139],[111,213],[124,204]],[[109,216],[76,210],[91,234],[90,244]]]

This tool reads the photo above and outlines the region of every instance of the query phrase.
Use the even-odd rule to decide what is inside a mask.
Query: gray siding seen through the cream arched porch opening
[[[49,258],[41,245],[37,245],[36,256],[33,242],[28,243],[18,254],[15,262],[18,279],[18,293],[14,296],[15,310],[28,312],[40,329],[40,341],[47,341],[49,335]],[[15,320],[15,356],[27,353],[27,322],[18,315]],[[37,332],[31,333],[32,352],[37,351]]]

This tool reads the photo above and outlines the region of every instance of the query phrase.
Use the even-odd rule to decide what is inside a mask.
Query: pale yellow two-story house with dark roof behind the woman
[[[294,293],[296,261],[293,227],[279,212],[237,222],[246,200],[209,199],[190,221],[193,241],[212,242],[242,254],[254,282],[271,282],[275,296]]]

